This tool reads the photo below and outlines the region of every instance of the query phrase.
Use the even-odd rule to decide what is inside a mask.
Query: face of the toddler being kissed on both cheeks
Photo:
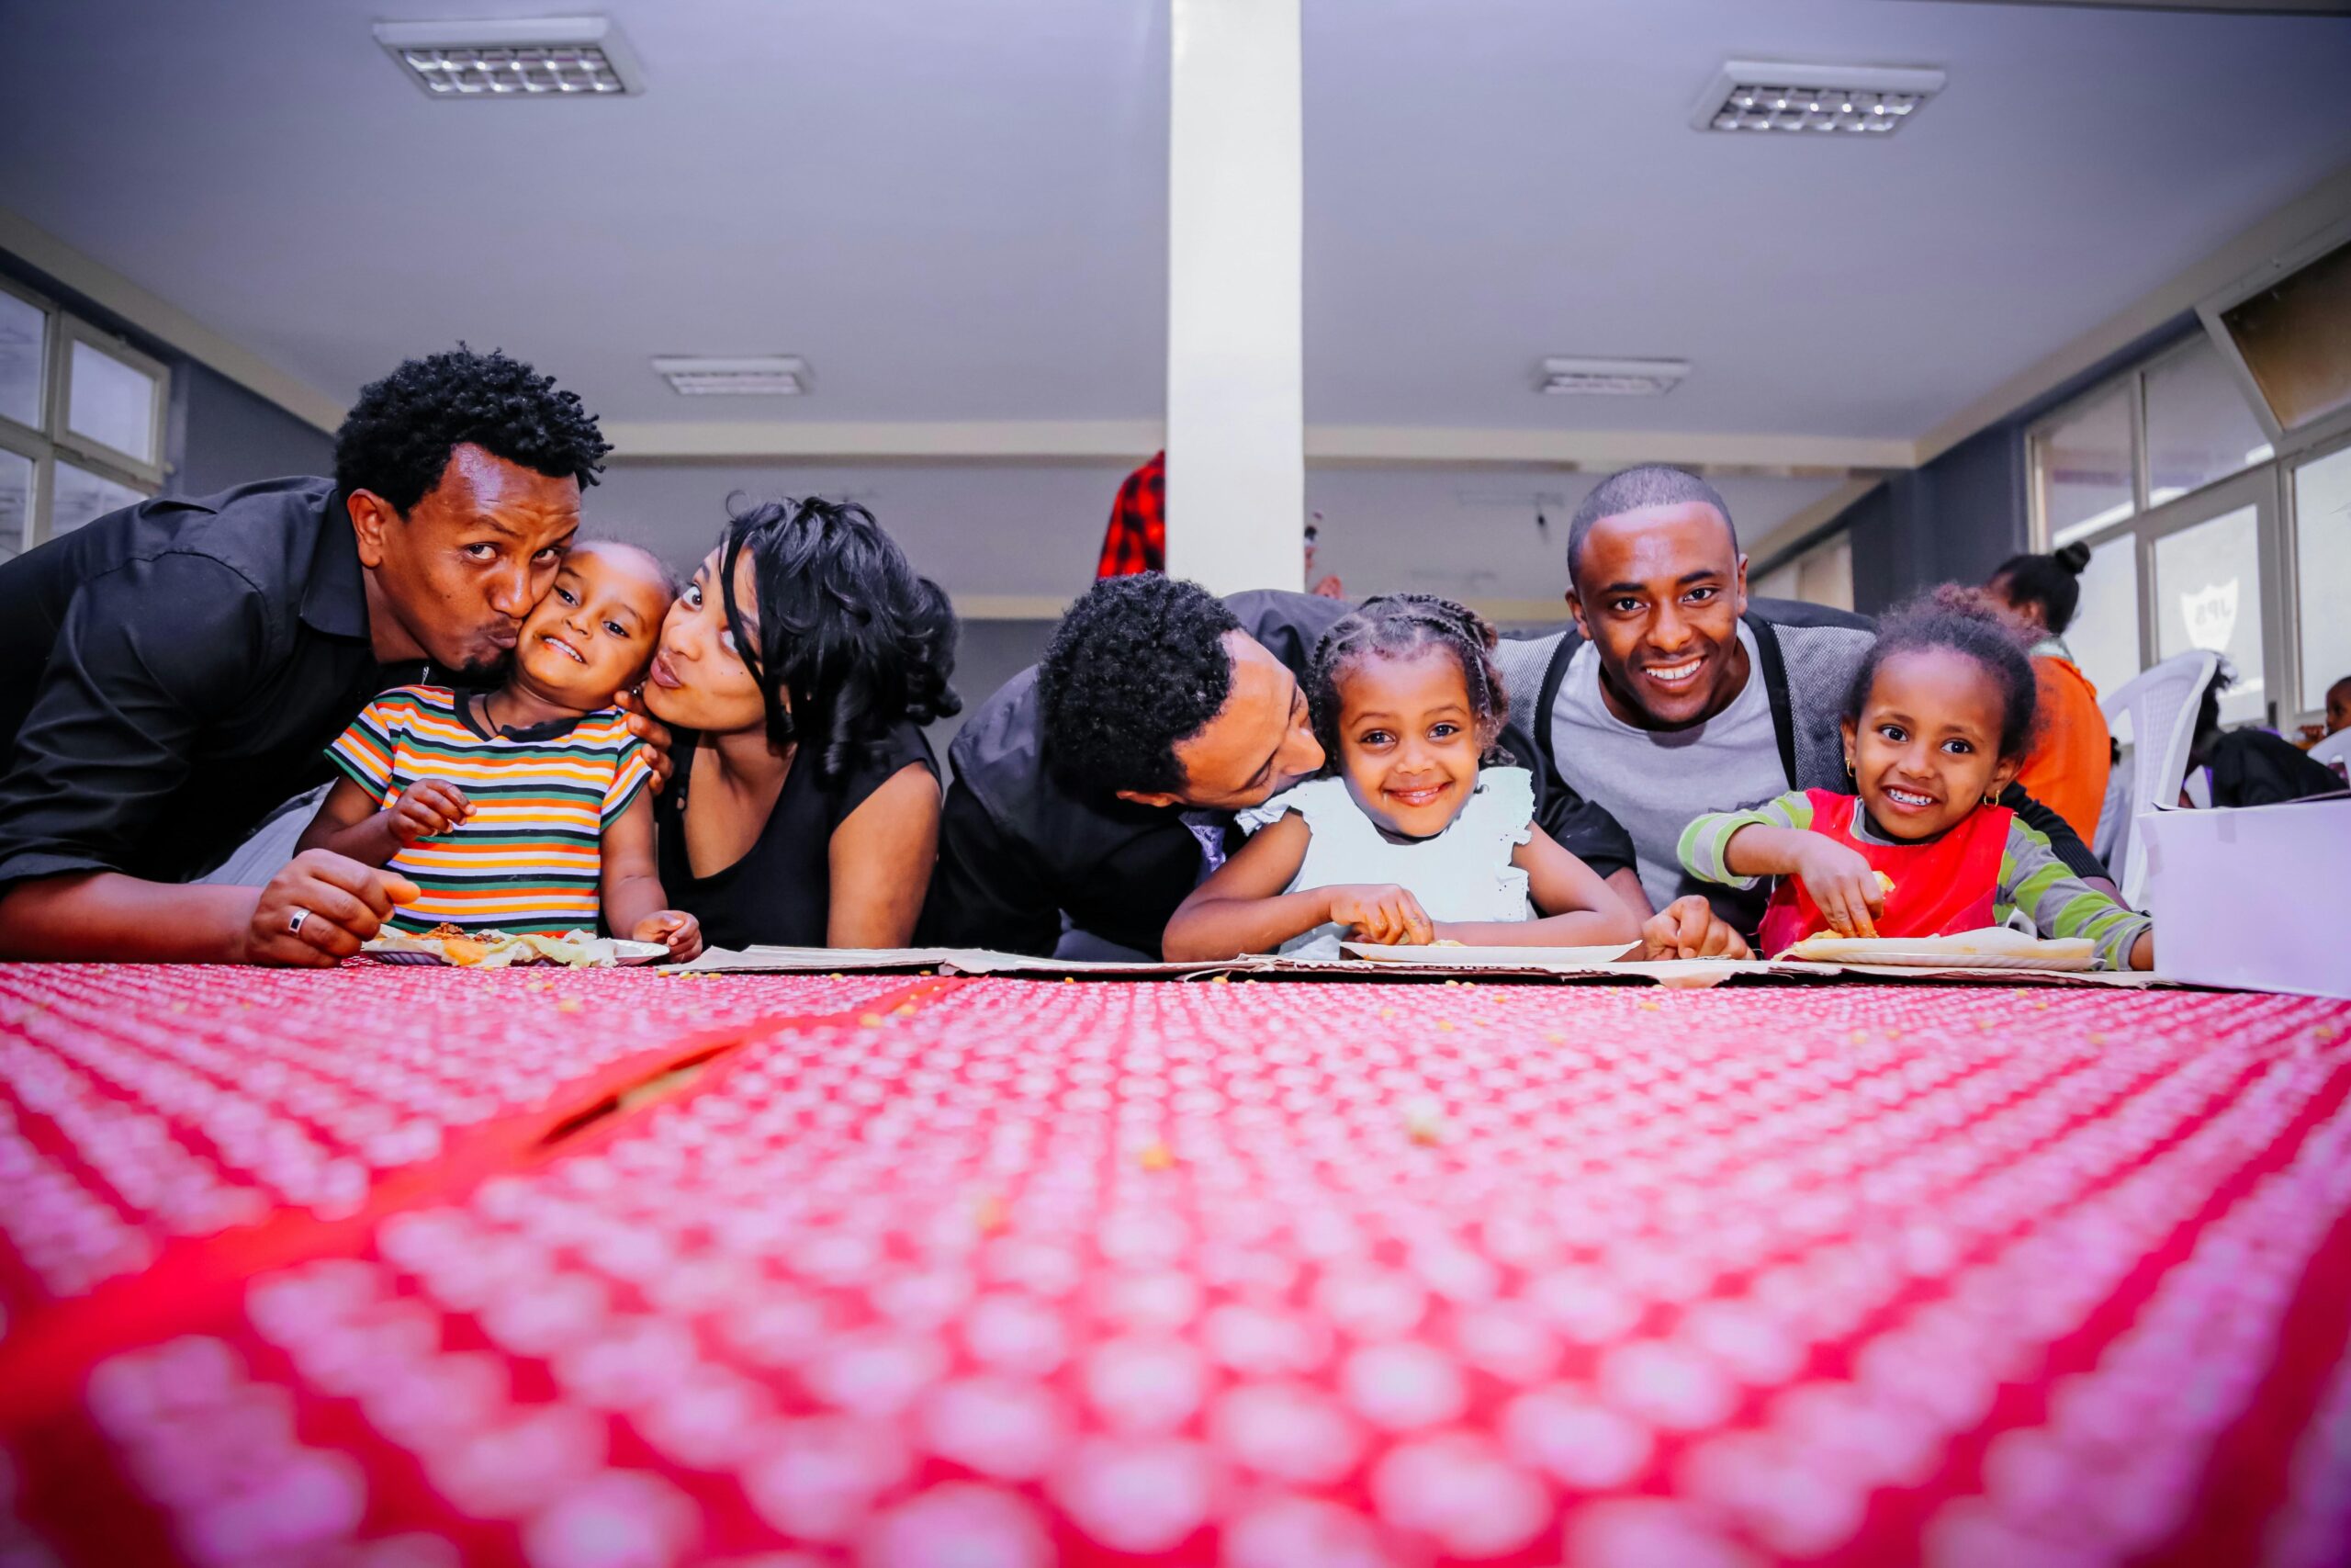
[[[632,545],[578,545],[522,623],[515,684],[564,708],[607,708],[654,656],[668,609],[670,583],[651,555]]]

